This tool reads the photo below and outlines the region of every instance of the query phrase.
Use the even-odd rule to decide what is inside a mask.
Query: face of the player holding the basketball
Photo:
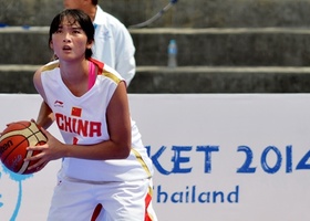
[[[52,34],[51,48],[60,60],[85,56],[85,50],[91,46],[83,29],[71,18],[64,18],[58,31]]]

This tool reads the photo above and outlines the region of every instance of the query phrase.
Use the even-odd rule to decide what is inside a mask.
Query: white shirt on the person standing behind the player
[[[93,57],[116,70],[127,86],[135,75],[135,46],[128,30],[97,6]]]

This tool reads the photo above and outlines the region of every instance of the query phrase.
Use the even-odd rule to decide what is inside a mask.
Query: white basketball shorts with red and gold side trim
[[[156,221],[151,186],[149,179],[101,183],[60,179],[48,221],[91,221],[97,204],[103,208],[96,221]]]

